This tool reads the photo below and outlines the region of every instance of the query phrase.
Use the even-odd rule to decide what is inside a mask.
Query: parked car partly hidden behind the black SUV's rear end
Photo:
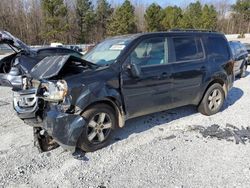
[[[235,60],[234,73],[235,76],[245,77],[248,65],[248,53],[246,47],[239,41],[230,41],[233,58]]]

